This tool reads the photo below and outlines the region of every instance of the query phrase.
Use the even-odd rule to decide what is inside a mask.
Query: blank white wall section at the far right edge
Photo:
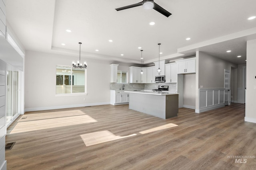
[[[244,121],[256,123],[256,39],[247,41],[246,49],[246,111]]]

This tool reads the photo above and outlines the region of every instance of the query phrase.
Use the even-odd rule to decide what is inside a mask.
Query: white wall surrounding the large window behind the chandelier
[[[78,56],[77,56],[78,57]],[[56,97],[56,65],[71,66],[76,57],[26,51],[25,111],[92,106],[110,103],[109,61],[81,56],[87,66],[87,96]],[[85,100],[84,100],[85,99]]]

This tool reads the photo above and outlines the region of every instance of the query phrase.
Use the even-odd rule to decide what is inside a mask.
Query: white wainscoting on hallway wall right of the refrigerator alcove
[[[199,110],[196,113],[216,109],[224,104],[224,88],[199,89]]]

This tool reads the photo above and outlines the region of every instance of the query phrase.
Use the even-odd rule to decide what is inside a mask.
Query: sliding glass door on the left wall
[[[18,114],[19,72],[7,71],[7,114],[6,124]]]

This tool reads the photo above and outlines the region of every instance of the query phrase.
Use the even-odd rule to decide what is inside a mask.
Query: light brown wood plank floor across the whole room
[[[166,120],[128,105],[28,112],[7,129],[10,142],[8,170],[256,169],[256,158],[228,158],[256,156],[256,124],[244,121],[244,104],[181,108]]]

